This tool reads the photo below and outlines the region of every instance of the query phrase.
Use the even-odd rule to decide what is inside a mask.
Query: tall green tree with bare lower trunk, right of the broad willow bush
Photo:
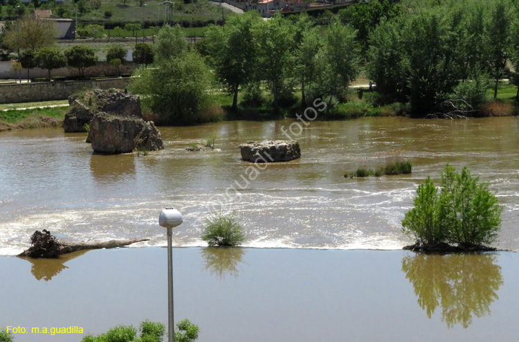
[[[219,80],[233,95],[233,111],[237,109],[239,87],[255,78],[255,27],[260,23],[257,12],[248,12],[230,17],[225,26],[210,26],[206,31],[206,48]]]

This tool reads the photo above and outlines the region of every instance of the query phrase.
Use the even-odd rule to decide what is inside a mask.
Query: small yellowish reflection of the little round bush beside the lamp
[[[227,274],[238,278],[238,265],[242,262],[245,250],[239,247],[206,247],[201,250],[206,260],[206,269],[220,279]]]

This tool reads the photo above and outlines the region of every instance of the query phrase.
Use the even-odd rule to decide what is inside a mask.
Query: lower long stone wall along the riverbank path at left
[[[66,100],[85,89],[125,89],[129,78],[0,84],[0,103]]]

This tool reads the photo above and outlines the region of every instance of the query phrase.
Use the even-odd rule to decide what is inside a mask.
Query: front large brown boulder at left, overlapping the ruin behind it
[[[151,121],[105,113],[94,115],[87,141],[94,152],[107,154],[164,148],[161,133]]]

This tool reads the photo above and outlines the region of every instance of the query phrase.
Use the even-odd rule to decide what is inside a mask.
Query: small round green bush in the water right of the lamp
[[[201,239],[210,247],[238,246],[244,241],[244,233],[234,217],[221,214],[206,219]]]

